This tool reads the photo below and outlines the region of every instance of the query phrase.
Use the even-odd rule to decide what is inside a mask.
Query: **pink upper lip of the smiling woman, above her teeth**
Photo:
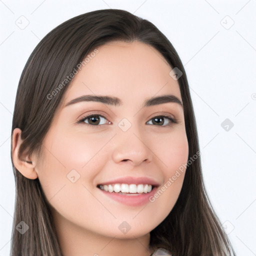
[[[152,178],[149,177],[132,177],[132,176],[126,176],[126,177],[119,177],[116,179],[111,179],[108,181],[104,181],[99,183],[98,185],[109,185],[109,184],[118,184],[118,183],[124,183],[124,184],[149,184],[152,186],[159,186],[159,183],[155,181]]]

